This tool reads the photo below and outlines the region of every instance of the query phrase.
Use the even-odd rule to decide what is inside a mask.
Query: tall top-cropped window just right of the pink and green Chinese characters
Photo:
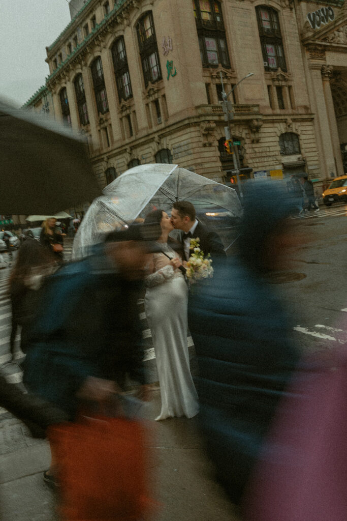
[[[203,67],[230,67],[220,2],[193,0]]]

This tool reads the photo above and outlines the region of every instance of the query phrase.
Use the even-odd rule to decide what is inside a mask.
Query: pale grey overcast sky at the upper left
[[[49,74],[46,46],[70,22],[67,0],[0,0],[0,95],[23,105]]]

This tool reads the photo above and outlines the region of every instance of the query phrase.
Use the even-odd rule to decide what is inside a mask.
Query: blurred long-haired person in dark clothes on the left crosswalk
[[[27,332],[40,299],[44,278],[57,268],[54,258],[37,241],[24,241],[18,250],[9,278],[12,306],[10,352],[15,357],[15,340],[21,327],[20,349],[27,351]]]

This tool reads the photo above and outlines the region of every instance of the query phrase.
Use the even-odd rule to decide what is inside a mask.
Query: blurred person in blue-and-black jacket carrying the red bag
[[[99,412],[101,403],[126,389],[127,376],[146,398],[137,310],[147,262],[143,230],[110,233],[95,255],[47,280],[30,332],[24,383],[71,419],[82,409]],[[56,481],[54,454],[44,479]]]

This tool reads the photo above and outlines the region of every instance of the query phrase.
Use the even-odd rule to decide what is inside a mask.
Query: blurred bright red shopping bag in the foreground
[[[143,423],[123,417],[85,418],[51,427],[60,512],[68,521],[135,521],[150,510]]]

